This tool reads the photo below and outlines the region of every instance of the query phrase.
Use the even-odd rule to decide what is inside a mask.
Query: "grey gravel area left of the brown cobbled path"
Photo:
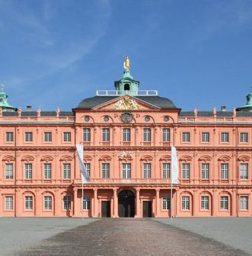
[[[59,232],[87,225],[95,220],[97,219],[0,218],[0,256],[12,255]]]

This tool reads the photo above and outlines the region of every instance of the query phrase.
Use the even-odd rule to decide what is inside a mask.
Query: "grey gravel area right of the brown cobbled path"
[[[171,225],[171,219],[154,219]],[[252,254],[252,218],[175,218],[173,226]]]

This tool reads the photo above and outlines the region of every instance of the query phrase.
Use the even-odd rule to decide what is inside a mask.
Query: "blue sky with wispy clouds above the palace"
[[[141,89],[183,110],[245,104],[250,0],[0,0],[0,84],[25,109],[71,110],[113,89],[123,56]]]

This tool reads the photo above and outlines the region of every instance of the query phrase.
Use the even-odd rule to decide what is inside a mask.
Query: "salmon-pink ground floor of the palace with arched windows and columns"
[[[252,216],[250,187],[85,186],[1,190],[0,216]],[[82,200],[83,198],[83,200]]]

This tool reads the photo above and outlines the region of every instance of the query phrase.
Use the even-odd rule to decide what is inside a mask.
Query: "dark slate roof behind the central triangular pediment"
[[[80,102],[80,104],[78,104],[78,107],[76,107],[75,109],[88,110],[120,97],[121,96],[94,96],[92,98],[85,98],[83,101]],[[134,96],[134,98],[138,98],[141,101],[145,101],[146,103],[155,105],[157,107],[160,107],[161,109],[178,109],[174,105],[174,103],[167,98],[159,96]]]

